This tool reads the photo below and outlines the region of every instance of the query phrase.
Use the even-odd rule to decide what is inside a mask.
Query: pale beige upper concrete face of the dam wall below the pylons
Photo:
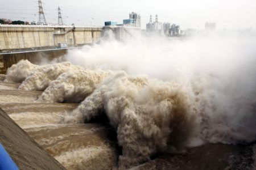
[[[0,25],[0,52],[90,44],[100,39],[102,28],[47,25]]]

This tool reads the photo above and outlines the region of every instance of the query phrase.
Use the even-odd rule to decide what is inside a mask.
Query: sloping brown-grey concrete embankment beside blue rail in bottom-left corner
[[[65,169],[0,109],[0,142],[19,169]]]

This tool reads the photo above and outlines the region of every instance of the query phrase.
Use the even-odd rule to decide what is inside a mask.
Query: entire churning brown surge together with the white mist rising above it
[[[62,124],[84,123],[106,114],[122,146],[121,169],[146,162],[157,152],[180,152],[203,143],[250,143],[256,140],[255,51],[250,47],[255,43],[251,39],[249,44],[246,39],[220,40],[174,42],[176,51],[167,46],[142,46],[149,50],[149,59],[139,58],[133,51],[138,44],[122,48],[115,42],[118,53],[133,52],[130,58],[123,54],[125,62],[118,54],[109,61],[113,53],[102,59],[106,53],[100,49],[111,49],[111,43],[87,46],[88,51],[75,50],[66,58],[71,60],[76,58],[72,53],[79,54],[75,59],[79,62],[86,56],[85,67],[89,69],[69,62],[40,66],[31,73],[20,72],[26,79],[19,89],[44,90],[37,102],[81,101],[79,107],[60,118]],[[233,46],[227,46],[233,41]],[[195,50],[195,44],[203,45],[203,50]],[[184,53],[183,45],[191,53]],[[245,52],[237,51],[238,46]],[[168,62],[163,52],[170,54]],[[149,77],[139,75],[141,72]],[[15,76],[19,75],[14,71]]]

